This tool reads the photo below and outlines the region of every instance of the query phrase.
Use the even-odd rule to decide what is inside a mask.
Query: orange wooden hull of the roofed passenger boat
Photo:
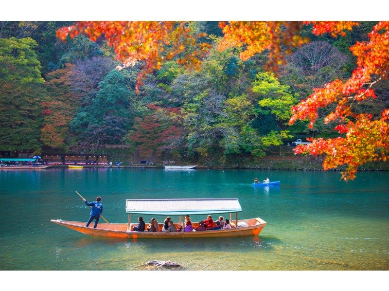
[[[61,219],[52,222],[68,227],[72,230],[89,236],[115,237],[115,238],[201,238],[201,237],[235,237],[235,236],[258,236],[265,227],[266,222],[261,218],[238,220],[246,222],[248,226],[235,227],[227,230],[208,230],[198,232],[133,232],[127,231],[126,223],[99,223],[97,228],[86,227],[86,222],[65,221]],[[131,229],[137,224],[132,223]],[[194,225],[195,226],[195,225]]]

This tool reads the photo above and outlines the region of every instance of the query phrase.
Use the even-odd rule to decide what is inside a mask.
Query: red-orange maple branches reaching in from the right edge
[[[317,34],[329,32],[337,34],[339,28],[334,25],[318,27]],[[369,41],[357,42],[350,48],[357,57],[357,68],[348,80],[335,80],[314,89],[306,100],[292,108],[293,124],[296,120],[309,119],[310,127],[318,117],[318,109],[335,103],[336,109],[325,122],[339,122],[334,129],[345,137],[336,139],[317,139],[310,145],[301,145],[296,153],[308,152],[312,155],[325,154],[324,169],[336,168],[347,164],[342,172],[344,180],[354,179],[358,165],[371,161],[386,161],[389,152],[389,110],[382,112],[381,119],[372,120],[368,114],[356,114],[355,103],[376,98],[373,86],[388,79],[389,70],[389,22],[382,21],[374,26]]]

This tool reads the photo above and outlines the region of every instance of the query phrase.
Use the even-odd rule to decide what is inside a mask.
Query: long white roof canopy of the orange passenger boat
[[[241,212],[237,199],[127,199],[125,212],[153,215],[195,215]]]

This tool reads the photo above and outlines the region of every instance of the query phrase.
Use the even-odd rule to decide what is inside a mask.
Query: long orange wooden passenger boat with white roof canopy
[[[237,199],[140,199],[126,200],[127,223],[99,223],[97,228],[86,227],[86,222],[52,219],[53,223],[68,227],[72,230],[90,236],[117,237],[117,238],[200,238],[200,237],[233,237],[233,236],[258,236],[265,227],[266,222],[261,218],[248,218],[238,220],[238,212],[242,208]],[[235,223],[232,222],[232,213],[235,212]],[[230,213],[230,223],[235,226],[232,229],[192,231],[192,232],[137,232],[133,231],[137,223],[131,223],[131,214],[178,216],[179,227],[184,221],[184,215],[210,215]],[[181,220],[182,216],[182,220]],[[172,220],[173,220],[172,219]],[[194,229],[198,223],[192,222]],[[159,224],[162,229],[162,224]]]

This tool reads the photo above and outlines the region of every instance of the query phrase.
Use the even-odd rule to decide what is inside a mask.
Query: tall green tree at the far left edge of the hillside
[[[0,39],[0,148],[38,149],[46,91],[35,40]]]

